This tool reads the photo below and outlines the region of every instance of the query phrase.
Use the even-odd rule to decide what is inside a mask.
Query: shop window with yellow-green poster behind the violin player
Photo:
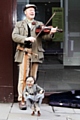
[[[44,22],[49,20],[56,11],[56,15],[47,26],[58,26],[63,33],[57,33],[53,41],[43,42],[45,57],[50,57],[63,66],[80,66],[80,1],[75,0],[17,0],[17,20],[24,19],[22,8],[27,3],[36,4],[38,10],[36,19]],[[48,61],[45,62],[49,64]]]

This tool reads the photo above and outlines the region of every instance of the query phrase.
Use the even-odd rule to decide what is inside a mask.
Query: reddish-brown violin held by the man
[[[38,33],[40,33],[41,35],[42,34],[48,34],[48,33],[50,33],[50,31],[51,31],[51,28],[53,28],[53,26],[44,26],[44,25],[39,25],[37,28],[36,28],[36,30],[35,30],[35,33],[36,34],[38,34]],[[62,29],[58,29],[57,28],[57,30],[56,30],[57,32],[63,32],[63,30]]]

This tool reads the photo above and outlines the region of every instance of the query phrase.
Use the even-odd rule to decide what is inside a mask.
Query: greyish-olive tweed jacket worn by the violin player
[[[32,27],[31,27],[31,36],[36,38],[35,29],[37,26],[43,25],[43,23],[40,21],[36,21],[36,20],[34,20],[34,22],[35,24],[32,24]],[[28,24],[27,19],[18,21],[12,32],[13,41],[16,42],[17,45],[20,44],[21,47],[23,47],[25,38],[28,35],[27,24]],[[42,48],[42,40],[50,40],[51,38],[52,37],[50,34],[43,35],[43,36],[38,37],[36,41],[32,43],[32,52],[35,54],[38,54],[37,57],[35,57],[35,55],[32,55],[32,62],[42,63],[44,59],[44,54],[43,54],[44,49]],[[15,62],[21,63],[23,60],[23,55],[24,55],[23,51],[16,49],[16,53],[14,57]]]

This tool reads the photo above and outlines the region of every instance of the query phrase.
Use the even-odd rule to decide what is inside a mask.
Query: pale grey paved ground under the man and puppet
[[[41,105],[41,116],[31,116],[31,109],[20,110],[18,103],[0,103],[0,120],[80,120],[80,109]]]

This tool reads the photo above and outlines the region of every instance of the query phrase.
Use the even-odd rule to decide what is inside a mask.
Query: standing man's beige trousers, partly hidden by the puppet
[[[26,77],[29,75],[29,72],[30,72],[30,76],[33,76],[35,80],[37,77],[38,63],[31,63],[31,67],[29,68],[30,59],[31,59],[30,55],[24,54],[23,61],[22,63],[19,64],[18,101],[22,101],[22,93],[26,85]]]

